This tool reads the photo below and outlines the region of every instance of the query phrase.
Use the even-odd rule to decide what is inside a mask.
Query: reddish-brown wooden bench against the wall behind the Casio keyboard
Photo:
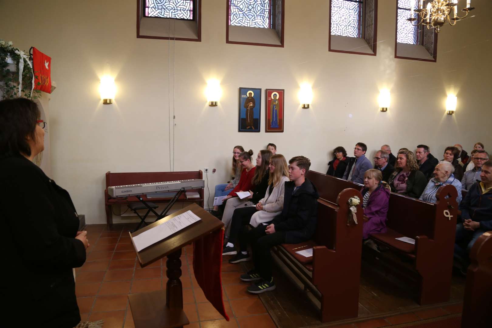
[[[127,205],[130,203],[140,203],[140,201],[135,196],[130,196],[127,198],[112,198],[108,195],[109,186],[127,185],[127,184],[138,184],[138,183],[152,183],[152,182],[163,182],[163,181],[176,181],[176,180],[187,180],[187,179],[203,179],[203,173],[199,171],[182,171],[182,172],[132,172],[132,173],[111,173],[106,172],[106,189],[104,189],[104,205],[106,207],[106,222],[108,226],[113,224],[113,205]],[[203,208],[203,189],[190,190],[198,192],[200,198],[190,198],[186,199],[186,195],[181,195],[176,203],[197,203]],[[142,199],[144,201],[149,201],[152,203],[167,203],[171,198],[147,198],[143,195]]]

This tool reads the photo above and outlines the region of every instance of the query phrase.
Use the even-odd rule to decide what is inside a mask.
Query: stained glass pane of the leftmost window
[[[194,0],[145,0],[145,17],[193,19]]]

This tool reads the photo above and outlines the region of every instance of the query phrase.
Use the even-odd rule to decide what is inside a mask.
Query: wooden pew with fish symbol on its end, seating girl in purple
[[[353,182],[313,171],[307,173],[307,179],[314,183],[320,198],[332,203],[335,193],[343,188],[362,188]],[[452,185],[439,189],[437,204],[391,193],[386,224],[388,232],[371,235],[376,243],[390,250],[372,254],[372,258],[377,257],[377,263],[388,269],[400,269],[404,279],[415,280],[419,291],[417,302],[421,305],[444,302],[450,296],[457,196],[458,192]],[[445,213],[446,210],[448,212]],[[400,237],[416,239],[415,245],[395,239]],[[370,254],[371,250],[365,253]]]

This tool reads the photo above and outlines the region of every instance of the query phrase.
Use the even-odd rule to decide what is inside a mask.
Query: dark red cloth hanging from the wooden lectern
[[[222,243],[224,230],[218,229],[193,242],[193,271],[205,297],[229,321],[222,299]]]

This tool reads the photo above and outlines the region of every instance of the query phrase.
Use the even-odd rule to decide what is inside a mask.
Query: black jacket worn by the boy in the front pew
[[[285,182],[283,209],[273,219],[275,231],[285,231],[285,242],[295,244],[308,240],[314,234],[319,198],[316,187],[308,179],[294,191],[294,181]]]

